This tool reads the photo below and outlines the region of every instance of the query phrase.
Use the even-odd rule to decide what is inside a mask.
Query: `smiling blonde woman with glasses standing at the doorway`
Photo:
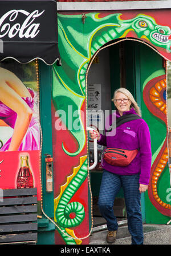
[[[116,118],[129,114],[141,116],[135,99],[127,89],[117,89],[112,101],[116,107]],[[113,203],[120,187],[123,187],[132,244],[143,244],[140,202],[141,193],[148,188],[152,159],[148,125],[143,119],[136,119],[117,127],[115,136],[107,136],[107,132],[102,135],[97,131],[90,132],[90,135],[91,139],[97,137],[97,143],[108,148],[139,149],[135,159],[125,167],[112,166],[103,160],[104,172],[98,204],[101,215],[107,220],[107,242],[113,243],[118,228],[116,217],[113,214]]]

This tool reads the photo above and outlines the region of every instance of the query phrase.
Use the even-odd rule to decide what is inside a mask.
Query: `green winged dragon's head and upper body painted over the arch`
[[[171,52],[171,41],[168,39],[171,30],[168,26],[160,26],[148,15],[139,14],[133,19],[123,20],[121,14],[111,14],[100,18],[99,13],[86,14],[86,23],[82,24],[81,15],[58,14],[59,46],[62,49],[62,67],[53,66],[54,86],[52,98],[56,109],[67,113],[68,105],[72,106],[73,124],[79,118],[80,128],[70,129],[78,141],[78,151],[68,152],[67,155],[78,155],[85,143],[83,121],[79,111],[86,99],[86,71],[93,54],[104,44],[117,38],[124,38],[133,31],[137,38],[145,40],[154,46],[162,47]],[[76,24],[80,25],[76,26]],[[68,118],[63,119],[68,127]]]

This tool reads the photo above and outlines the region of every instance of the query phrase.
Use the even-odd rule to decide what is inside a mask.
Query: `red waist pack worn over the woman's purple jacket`
[[[120,148],[106,148],[101,155],[101,164],[103,165],[103,159],[112,166],[128,166],[135,159],[138,149],[126,150]]]

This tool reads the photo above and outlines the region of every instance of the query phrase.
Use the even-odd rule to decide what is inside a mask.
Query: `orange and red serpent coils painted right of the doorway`
[[[167,125],[166,120],[166,78],[164,76],[156,77],[150,80],[144,90],[143,99],[146,107],[149,109],[154,116],[164,121]],[[163,174],[165,167],[168,164],[168,147],[167,147],[167,136],[158,153],[156,159],[151,168],[150,181],[148,186],[149,199],[153,205],[157,208],[161,214],[171,216],[170,204],[163,202],[160,199],[157,191],[157,183]]]

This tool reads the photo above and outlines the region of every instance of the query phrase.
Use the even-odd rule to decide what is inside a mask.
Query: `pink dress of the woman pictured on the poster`
[[[34,111],[34,92],[28,88],[31,97],[22,97],[27,105]],[[17,113],[7,107],[0,101],[0,119],[5,121],[7,125],[14,129],[15,121],[17,119]],[[1,135],[2,136],[2,135]],[[11,138],[0,148],[0,151],[6,151],[9,149]],[[40,129],[38,123],[38,117],[32,115],[30,125],[27,129],[25,137],[23,137],[21,145],[19,145],[18,151],[39,150],[40,149]]]

